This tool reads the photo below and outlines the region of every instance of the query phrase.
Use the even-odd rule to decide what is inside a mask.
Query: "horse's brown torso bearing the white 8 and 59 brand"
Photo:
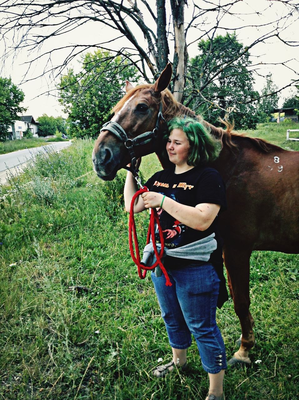
[[[221,157],[220,157],[221,158]],[[225,241],[252,250],[299,251],[299,152],[273,146],[242,149],[224,167],[228,210],[221,219]]]

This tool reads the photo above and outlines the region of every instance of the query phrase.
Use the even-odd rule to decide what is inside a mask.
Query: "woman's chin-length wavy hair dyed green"
[[[207,131],[207,129],[193,118],[173,118],[167,123],[169,132],[165,140],[173,129],[181,129],[190,144],[188,165],[205,165],[216,160],[220,152],[219,142]]]

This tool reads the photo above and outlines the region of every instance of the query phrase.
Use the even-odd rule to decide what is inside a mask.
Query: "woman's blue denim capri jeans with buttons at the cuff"
[[[193,334],[203,369],[217,374],[227,368],[225,347],[216,323],[219,278],[212,264],[189,264],[167,270],[172,286],[165,285],[165,276],[152,272],[169,343],[175,349],[191,346]]]

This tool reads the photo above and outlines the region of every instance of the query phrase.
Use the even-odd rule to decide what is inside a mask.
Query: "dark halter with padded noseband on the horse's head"
[[[124,143],[124,145],[128,149],[128,152],[130,153],[130,157],[131,157],[131,166],[124,167],[124,168],[126,170],[132,172],[134,178],[136,179],[137,183],[140,186],[142,186],[142,185],[140,183],[138,171],[136,170],[136,161],[137,160],[136,160],[133,146],[141,146],[142,144],[146,144],[146,143],[149,143],[149,142],[152,142],[153,140],[155,140],[158,135],[160,122],[162,120],[165,121],[165,118],[162,115],[162,102],[161,102],[156,126],[155,126],[154,130],[151,132],[144,132],[141,135],[136,136],[136,138],[130,139],[130,138],[128,138],[124,129],[117,122],[114,122],[114,121],[106,122],[106,124],[104,124],[102,126],[102,129],[100,130],[100,132],[102,132],[102,130],[108,130],[109,132],[113,133],[121,142]]]

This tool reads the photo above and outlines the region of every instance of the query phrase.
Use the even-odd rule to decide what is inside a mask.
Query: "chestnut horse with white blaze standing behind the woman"
[[[114,116],[104,125],[94,146],[94,170],[101,179],[113,180],[134,156],[154,151],[165,168],[169,165],[161,154],[165,121],[185,115],[200,119],[167,89],[171,74],[168,64],[153,85],[133,88],[126,83],[127,94],[113,108]],[[165,119],[158,118],[159,108]],[[299,152],[231,132],[230,126],[223,130],[202,122],[222,145],[211,166],[220,172],[226,185],[228,208],[219,223],[229,291],[242,329],[241,346],[229,363],[248,365],[249,350],[255,344],[249,312],[250,256],[253,250],[298,252]],[[144,132],[149,134],[145,135],[148,140],[143,140]]]

